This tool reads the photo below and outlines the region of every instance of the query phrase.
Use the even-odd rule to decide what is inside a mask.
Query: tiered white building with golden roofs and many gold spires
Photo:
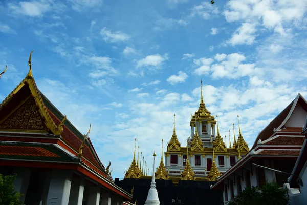
[[[237,141],[233,124],[233,144],[230,139],[230,129],[227,129],[229,132],[229,147],[227,147],[225,143],[226,138],[224,142],[223,137],[221,136],[218,116],[216,115],[215,119],[214,116],[211,115],[211,112],[206,108],[203,97],[202,81],[200,94],[201,100],[199,108],[195,114],[191,116],[191,135],[187,137],[186,147],[181,147],[181,143],[177,138],[176,115],[174,114],[173,133],[170,141],[167,143],[167,150],[164,153],[165,160],[163,161],[162,154],[160,165],[156,170],[155,176],[157,179],[169,179],[175,184],[179,183],[180,180],[216,181],[222,173],[225,173],[242,156],[249,152],[248,145],[241,133],[239,121]],[[129,170],[133,170],[131,167],[133,167],[132,164]],[[145,175],[140,174],[142,176],[137,176],[135,174],[130,174],[129,176],[131,176],[131,178],[140,177],[149,179],[150,176],[146,176],[146,171],[145,166],[145,170],[143,169],[142,171]]]

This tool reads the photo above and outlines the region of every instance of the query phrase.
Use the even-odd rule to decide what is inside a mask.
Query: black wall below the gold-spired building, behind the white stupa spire
[[[115,184],[128,193],[134,187],[133,203],[145,204],[151,179],[123,179],[115,178]],[[179,181],[174,185],[171,180],[156,180],[161,205],[185,204],[185,205],[223,205],[223,191],[211,190],[209,181]],[[172,199],[176,203],[172,203]],[[181,200],[181,203],[179,203]]]

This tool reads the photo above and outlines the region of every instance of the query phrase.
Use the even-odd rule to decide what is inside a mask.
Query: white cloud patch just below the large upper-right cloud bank
[[[251,45],[254,43],[256,38],[255,32],[256,32],[255,24],[243,23],[241,27],[239,27],[234,32],[228,43],[230,43],[232,46],[241,45],[241,44]]]

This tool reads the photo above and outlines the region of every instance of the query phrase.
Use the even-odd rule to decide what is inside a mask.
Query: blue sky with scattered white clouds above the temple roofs
[[[232,122],[237,132],[238,114],[251,146],[298,92],[307,96],[306,8],[305,0],[4,0],[0,99],[26,76],[34,50],[38,88],[81,132],[92,124],[101,161],[123,177],[135,137],[150,168],[154,150],[160,159],[173,113],[186,146],[202,79],[221,134]]]

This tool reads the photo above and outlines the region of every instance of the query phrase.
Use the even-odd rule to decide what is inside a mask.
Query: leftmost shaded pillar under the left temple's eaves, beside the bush
[[[21,168],[21,167],[15,167],[14,173],[17,174],[17,179],[14,182],[15,185],[15,191],[20,192],[21,194],[24,194],[20,196],[21,201],[25,201],[27,189],[30,181],[31,176],[31,170],[28,168]]]

